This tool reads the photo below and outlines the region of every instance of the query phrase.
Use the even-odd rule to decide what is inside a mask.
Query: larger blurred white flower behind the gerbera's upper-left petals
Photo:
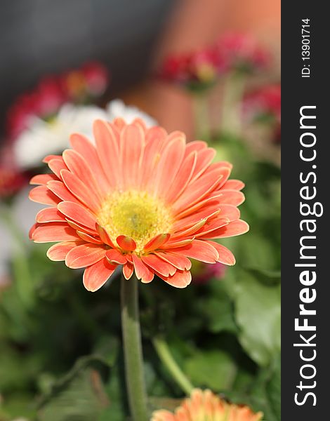
[[[71,104],[63,105],[52,121],[33,117],[13,145],[16,163],[23,169],[39,166],[46,155],[69,147],[72,133],[91,136],[95,119],[107,119],[104,109]]]

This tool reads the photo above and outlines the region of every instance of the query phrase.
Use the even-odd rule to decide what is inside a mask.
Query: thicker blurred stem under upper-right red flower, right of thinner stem
[[[246,77],[234,72],[223,80],[223,100],[221,105],[219,133],[242,135],[242,100],[246,87]]]

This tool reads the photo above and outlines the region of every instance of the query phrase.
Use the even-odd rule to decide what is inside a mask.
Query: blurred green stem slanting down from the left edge
[[[13,210],[4,203],[0,207],[0,217],[12,235],[15,251],[13,253],[13,278],[18,296],[25,309],[34,305],[34,285],[30,274],[29,260],[25,248],[24,235],[20,232],[17,222],[13,217]]]

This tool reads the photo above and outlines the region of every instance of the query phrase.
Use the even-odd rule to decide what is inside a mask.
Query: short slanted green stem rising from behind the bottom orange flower
[[[173,359],[167,343],[161,338],[154,338],[152,342],[154,344],[154,349],[156,349],[156,352],[159,356],[159,359],[161,359],[162,363],[164,363],[164,366],[166,366],[166,368],[169,370],[169,373],[171,373],[174,380],[176,380],[185,394],[190,395],[194,387],[185,376],[185,373],[183,373],[183,370],[181,370],[176,361]]]

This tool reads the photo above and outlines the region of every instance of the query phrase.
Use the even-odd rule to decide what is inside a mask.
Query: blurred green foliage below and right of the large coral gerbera
[[[251,229],[222,241],[237,258],[223,279],[184,290],[159,279],[140,285],[150,409],[183,398],[152,347],[162,335],[194,386],[279,421],[280,171],[243,140],[212,143],[246,183],[241,210]],[[50,262],[43,245],[29,245],[13,269],[17,258],[24,269],[0,291],[0,420],[127,420],[118,276],[88,293],[81,271]]]

